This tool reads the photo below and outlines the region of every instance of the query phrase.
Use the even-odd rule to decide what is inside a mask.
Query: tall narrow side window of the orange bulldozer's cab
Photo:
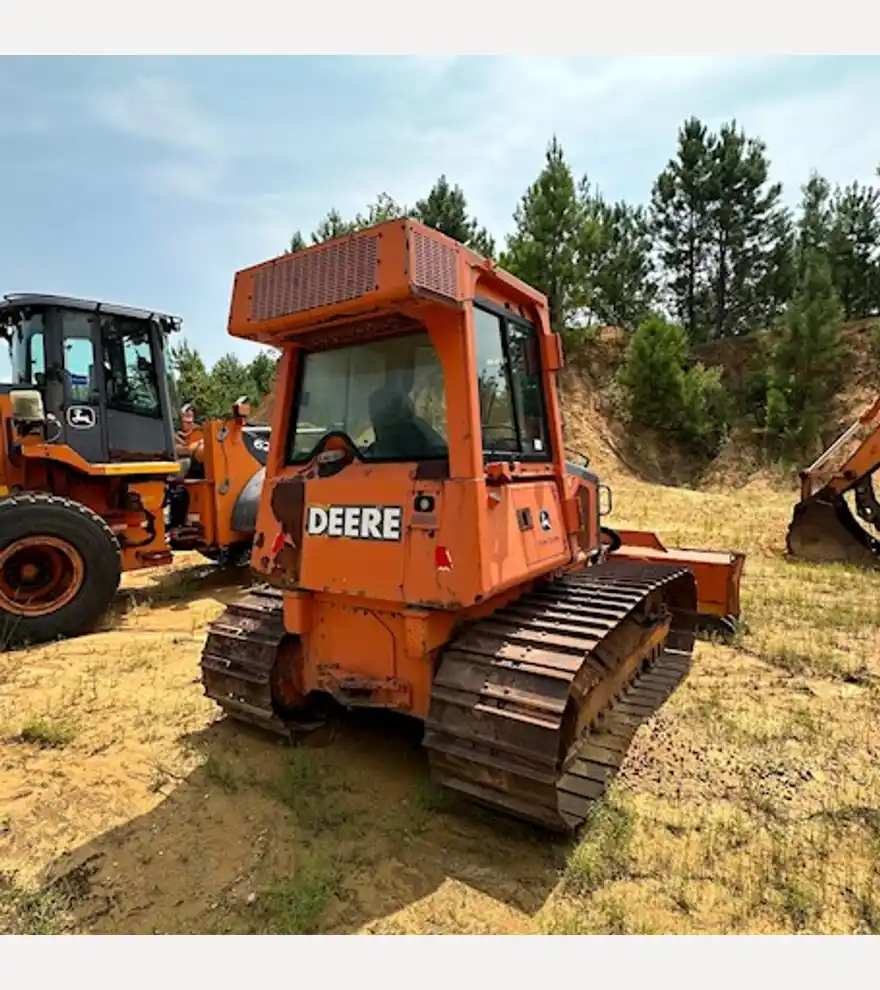
[[[483,453],[549,460],[535,328],[474,307]]]

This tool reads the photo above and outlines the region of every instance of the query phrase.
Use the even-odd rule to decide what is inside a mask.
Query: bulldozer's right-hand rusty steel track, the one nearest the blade
[[[635,652],[603,646],[649,596],[688,582],[685,568],[599,565],[462,630],[444,650],[431,692],[424,745],[437,782],[554,831],[575,831],[639,725],[686,675],[692,620],[682,615],[668,637]]]

